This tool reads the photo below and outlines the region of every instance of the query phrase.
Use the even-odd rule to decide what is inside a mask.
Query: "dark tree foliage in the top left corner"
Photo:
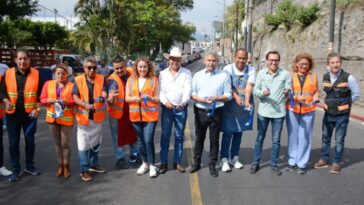
[[[5,18],[11,20],[30,16],[37,11],[38,1],[32,0],[1,0],[0,1],[0,21]]]

